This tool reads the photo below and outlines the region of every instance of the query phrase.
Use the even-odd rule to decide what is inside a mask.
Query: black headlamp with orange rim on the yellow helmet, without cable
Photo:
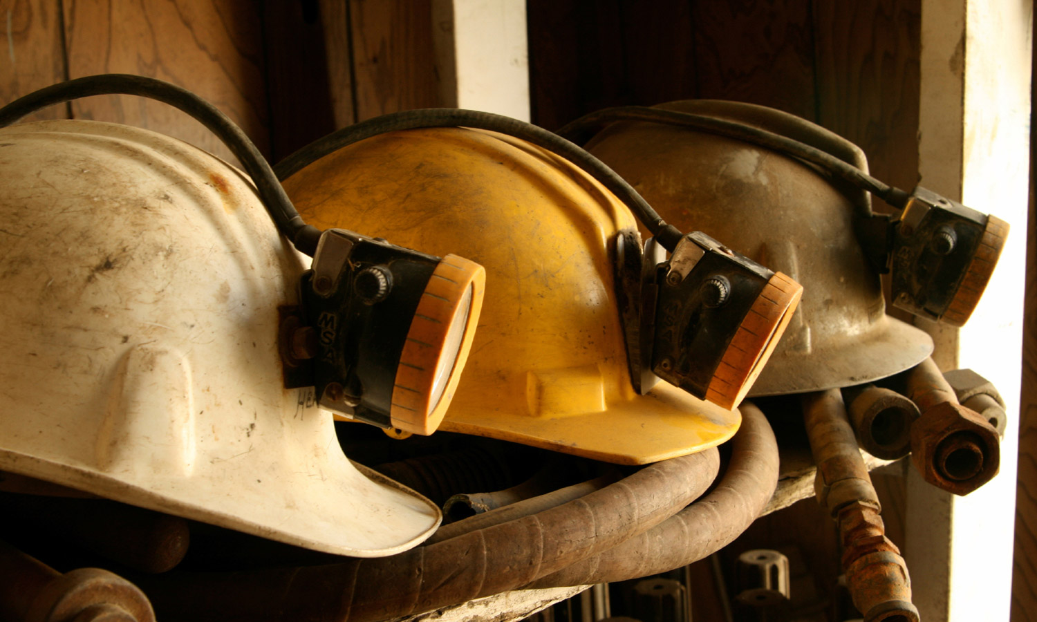
[[[646,393],[662,378],[735,407],[785,332],[803,286],[700,231],[684,235],[668,260],[655,238],[640,250],[637,232],[617,237],[635,389]]]

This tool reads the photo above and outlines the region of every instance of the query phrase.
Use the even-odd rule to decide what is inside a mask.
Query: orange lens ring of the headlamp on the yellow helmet
[[[725,408],[741,402],[781,340],[802,296],[803,285],[780,272],[770,277],[724,351],[706,388],[706,400]]]

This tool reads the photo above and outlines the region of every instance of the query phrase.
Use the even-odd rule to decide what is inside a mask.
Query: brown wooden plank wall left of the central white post
[[[0,0],[0,103],[92,74],[197,92],[273,161],[386,112],[436,106],[430,0]],[[36,118],[124,122],[230,158],[187,115],[130,96]]]

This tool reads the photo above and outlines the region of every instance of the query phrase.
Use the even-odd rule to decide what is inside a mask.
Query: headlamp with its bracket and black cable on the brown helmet
[[[723,116],[626,106],[585,115],[558,131],[577,143],[615,121],[649,121],[740,140],[797,158],[904,210],[900,220],[861,203],[856,228],[862,248],[880,272],[893,273],[893,304],[916,315],[960,327],[986,288],[1008,234],[1008,224],[924,188],[912,194],[875,179],[866,169],[802,142],[804,124],[785,121],[785,133]],[[807,130],[806,135],[813,131]]]

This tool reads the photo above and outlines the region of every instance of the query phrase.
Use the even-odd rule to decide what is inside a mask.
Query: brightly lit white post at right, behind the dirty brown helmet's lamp
[[[1031,0],[923,0],[922,186],[1012,226],[982,302],[960,331],[933,329],[942,369],[970,367],[1008,402],[1001,474],[965,498],[914,472],[905,554],[926,622],[1007,621],[1018,443],[1029,179]]]

